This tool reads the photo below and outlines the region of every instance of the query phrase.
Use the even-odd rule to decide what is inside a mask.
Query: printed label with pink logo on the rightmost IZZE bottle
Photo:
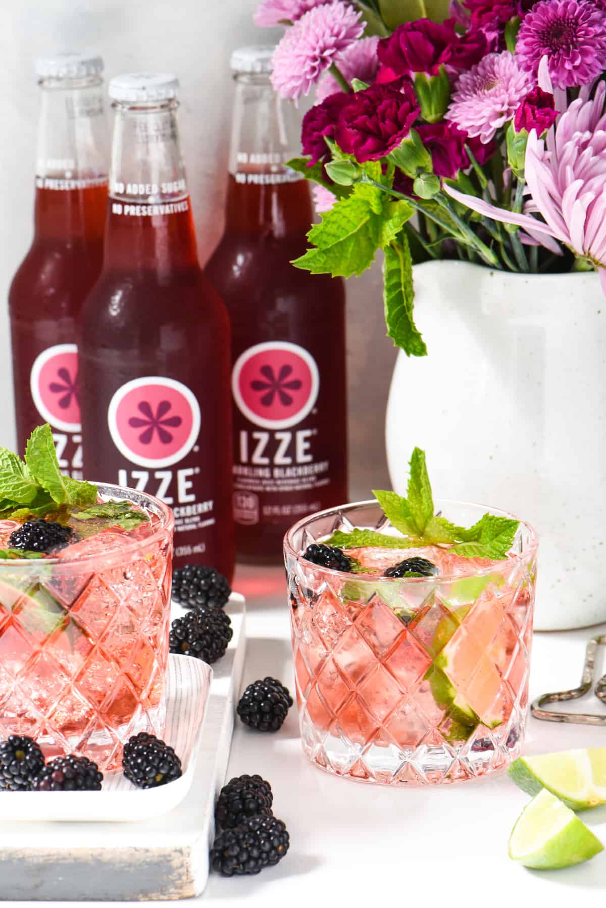
[[[247,427],[236,430],[236,522],[289,520],[319,509],[314,493],[330,481],[330,461],[314,455],[320,372],[311,353],[285,341],[256,344],[236,360],[232,390]]]

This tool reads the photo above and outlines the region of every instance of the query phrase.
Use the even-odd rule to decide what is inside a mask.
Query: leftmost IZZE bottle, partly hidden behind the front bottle
[[[42,111],[34,242],[9,293],[17,450],[49,422],[61,469],[82,479],[76,320],[103,262],[109,143],[103,60],[36,63]]]

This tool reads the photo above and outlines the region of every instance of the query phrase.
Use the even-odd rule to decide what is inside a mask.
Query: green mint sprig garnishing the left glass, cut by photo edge
[[[48,423],[32,432],[25,462],[0,448],[0,516],[28,520],[65,508],[94,504],[96,486],[63,476]]]

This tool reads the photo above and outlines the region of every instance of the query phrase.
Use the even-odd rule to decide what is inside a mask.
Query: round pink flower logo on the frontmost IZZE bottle
[[[146,376],[115,391],[107,424],[115,447],[132,463],[170,467],[194,447],[200,407],[181,381]]]

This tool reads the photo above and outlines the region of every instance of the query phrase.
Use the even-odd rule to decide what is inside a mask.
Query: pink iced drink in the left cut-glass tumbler
[[[99,493],[149,522],[89,521],[91,535],[55,557],[0,561],[0,738],[31,735],[47,757],[84,755],[103,770],[131,735],[164,732],[173,516],[128,489]],[[17,526],[0,521],[0,547]]]

